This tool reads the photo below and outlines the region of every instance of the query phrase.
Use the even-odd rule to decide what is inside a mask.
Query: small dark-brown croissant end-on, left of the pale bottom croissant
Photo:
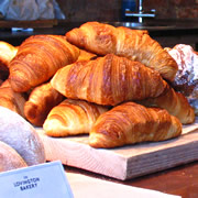
[[[37,86],[24,105],[24,114],[32,124],[42,127],[53,107],[64,100],[64,96],[52,88],[50,82]]]

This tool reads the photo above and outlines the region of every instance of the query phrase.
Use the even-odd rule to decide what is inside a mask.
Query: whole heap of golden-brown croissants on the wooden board
[[[172,86],[177,62],[147,31],[87,22],[1,44],[0,106],[50,136],[89,134],[108,148],[173,139],[195,121]]]

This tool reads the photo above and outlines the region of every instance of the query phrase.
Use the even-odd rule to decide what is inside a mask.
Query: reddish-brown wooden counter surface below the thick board
[[[158,190],[166,194],[182,196],[183,198],[198,197],[198,162],[125,182],[117,180],[69,166],[65,166],[65,170],[67,173],[80,173],[82,175],[109,180],[112,183]]]

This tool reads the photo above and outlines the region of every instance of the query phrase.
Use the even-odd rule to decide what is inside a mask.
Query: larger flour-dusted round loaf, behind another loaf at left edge
[[[45,162],[45,151],[35,129],[21,116],[0,107],[0,141],[13,147],[28,165]]]

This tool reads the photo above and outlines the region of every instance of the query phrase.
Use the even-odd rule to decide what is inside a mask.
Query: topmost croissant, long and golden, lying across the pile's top
[[[178,66],[175,59],[153,40],[147,31],[114,28],[99,22],[87,22],[66,34],[67,41],[99,55],[113,53],[139,61],[173,81]]]

